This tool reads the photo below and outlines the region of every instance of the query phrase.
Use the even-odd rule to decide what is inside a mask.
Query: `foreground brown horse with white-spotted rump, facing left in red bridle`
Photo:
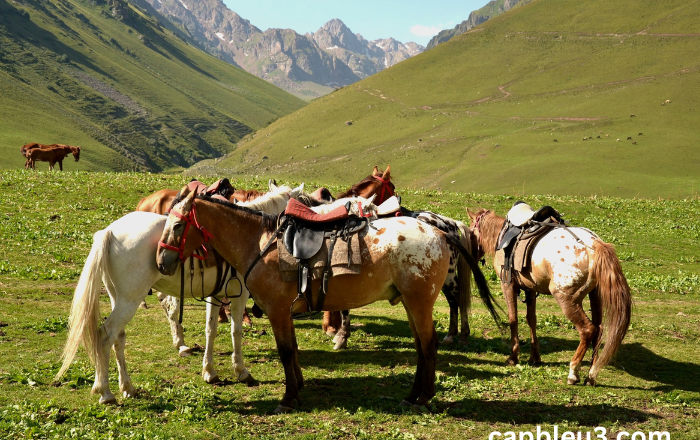
[[[195,209],[196,208],[196,209]],[[196,225],[187,229],[186,224]],[[440,293],[449,267],[448,237],[434,228],[423,227],[411,218],[375,220],[361,235],[366,246],[360,275],[332,277],[325,310],[347,310],[379,300],[402,302],[415,339],[418,365],[411,392],[402,405],[423,406],[435,395],[437,335],[433,326],[433,305]],[[181,191],[171,210],[161,237],[156,263],[163,274],[172,275],[180,264],[180,255],[188,257],[205,242],[210,242],[226,261],[246,273],[258,259],[260,250],[274,234],[277,216],[198,197],[187,187]],[[184,237],[184,231],[192,234]],[[166,249],[166,246],[168,249]],[[181,249],[180,252],[170,249]],[[312,290],[319,288],[314,281]],[[304,385],[299,365],[298,345],[290,312],[305,312],[297,296],[295,282],[283,282],[278,262],[277,243],[272,243],[250,270],[248,288],[267,313],[285,373],[286,391],[276,413],[294,409]]]

